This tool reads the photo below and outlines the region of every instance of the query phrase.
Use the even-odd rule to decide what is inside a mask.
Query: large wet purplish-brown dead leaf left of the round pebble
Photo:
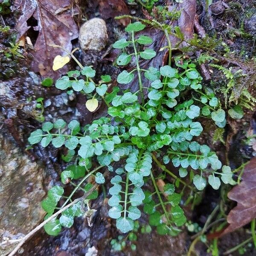
[[[38,31],[38,37],[34,45],[34,61],[32,70],[42,76],[58,78],[67,72],[67,67],[58,71],[52,70],[52,62],[56,55],[66,55],[59,48],[50,47],[57,44],[71,51],[71,40],[78,37],[78,29],[72,14],[71,0],[15,0],[15,9],[21,14],[17,20],[15,29],[19,33],[17,40],[30,29],[27,21],[34,17],[38,25],[33,29]],[[60,12],[61,10],[61,12]]]

